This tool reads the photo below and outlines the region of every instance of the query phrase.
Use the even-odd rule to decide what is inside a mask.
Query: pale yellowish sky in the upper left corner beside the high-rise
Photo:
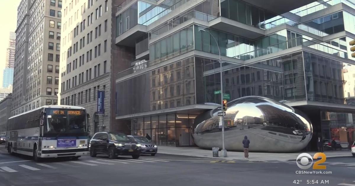
[[[0,0],[0,86],[6,61],[6,47],[9,44],[10,32],[15,32],[17,22],[17,6],[21,0]]]

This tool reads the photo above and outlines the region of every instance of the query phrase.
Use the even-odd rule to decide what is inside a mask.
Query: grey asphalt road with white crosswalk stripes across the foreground
[[[38,163],[10,156],[0,145],[0,186],[355,186],[355,158],[327,159],[323,165],[327,169],[321,171],[332,174],[296,174],[301,169],[295,162],[218,161],[159,153],[138,160],[98,156]]]

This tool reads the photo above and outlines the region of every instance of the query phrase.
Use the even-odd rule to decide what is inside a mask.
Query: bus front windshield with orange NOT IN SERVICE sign
[[[81,109],[45,109],[44,134],[85,133],[86,113]]]

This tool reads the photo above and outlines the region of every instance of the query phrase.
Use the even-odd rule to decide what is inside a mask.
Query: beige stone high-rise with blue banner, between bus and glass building
[[[110,126],[124,126],[115,124],[114,84],[117,73],[129,67],[133,55],[132,49],[118,48],[114,44],[112,33],[120,2],[63,1],[59,101],[61,105],[87,109],[93,118],[89,121],[91,134],[107,131]],[[127,59],[116,63],[120,58]],[[99,95],[104,97],[98,98]],[[103,109],[98,111],[98,104]]]

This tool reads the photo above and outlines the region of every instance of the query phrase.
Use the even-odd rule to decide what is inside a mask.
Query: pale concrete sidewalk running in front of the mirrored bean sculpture
[[[167,147],[158,146],[158,154],[172,154],[180,156],[192,156],[192,157],[202,157],[202,158],[215,158],[223,160],[246,160],[244,159],[244,152],[232,152],[228,151],[227,158],[223,157],[212,157],[212,150],[205,150],[199,147]],[[296,160],[297,156],[302,152],[296,153],[267,153],[267,152],[249,152],[249,159],[246,161],[250,162],[268,162],[268,161],[289,161]],[[316,152],[307,152],[313,156]],[[327,158],[334,157],[350,157],[350,150],[339,150],[339,151],[325,151]],[[219,151],[219,156],[221,156],[221,151]]]

